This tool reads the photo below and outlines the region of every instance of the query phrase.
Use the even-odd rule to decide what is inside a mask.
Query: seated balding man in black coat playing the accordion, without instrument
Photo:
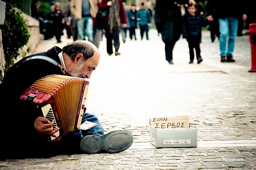
[[[22,93],[34,82],[47,75],[69,75],[90,78],[98,66],[99,50],[89,41],[77,40],[63,47],[52,47],[47,52],[27,56],[5,73],[0,84],[1,159],[48,157],[74,153],[117,153],[133,143],[131,132],[112,131],[104,135],[98,118],[85,109],[81,123],[97,123],[89,130],[71,131],[58,142],[49,141],[59,128],[54,121],[38,113],[36,107],[22,102]]]

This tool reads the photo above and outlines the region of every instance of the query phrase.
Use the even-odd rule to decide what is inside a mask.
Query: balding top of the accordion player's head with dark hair
[[[71,58],[72,61],[75,60],[78,53],[83,54],[84,60],[99,54],[97,47],[95,47],[93,43],[85,40],[76,40],[63,47],[62,50],[63,53],[66,53]]]

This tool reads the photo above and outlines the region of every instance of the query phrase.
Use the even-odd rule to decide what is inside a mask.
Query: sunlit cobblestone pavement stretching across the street
[[[137,32],[137,36],[139,34]],[[51,159],[6,160],[2,169],[256,169],[256,73],[250,73],[248,36],[237,37],[235,63],[220,63],[218,41],[203,32],[201,64],[188,64],[188,45],[180,39],[174,65],[165,61],[155,30],[150,40],[121,42],[120,56],[101,61],[89,79],[86,107],[105,127],[130,130],[133,145],[117,154],[60,155]],[[121,38],[120,38],[121,39]],[[63,47],[70,39],[42,41],[35,51]],[[198,147],[155,148],[149,118],[188,115],[198,127]]]

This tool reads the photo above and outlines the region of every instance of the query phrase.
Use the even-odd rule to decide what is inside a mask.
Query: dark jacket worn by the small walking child
[[[201,37],[202,27],[206,27],[207,24],[203,15],[195,14],[195,16],[192,16],[189,13],[183,15],[182,23],[183,38],[188,38],[191,36]]]

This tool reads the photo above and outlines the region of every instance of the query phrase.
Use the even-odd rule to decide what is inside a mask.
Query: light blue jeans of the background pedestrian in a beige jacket
[[[93,23],[91,17],[83,17],[76,20],[79,40],[85,40],[85,33],[88,36],[88,41],[93,42]]]

